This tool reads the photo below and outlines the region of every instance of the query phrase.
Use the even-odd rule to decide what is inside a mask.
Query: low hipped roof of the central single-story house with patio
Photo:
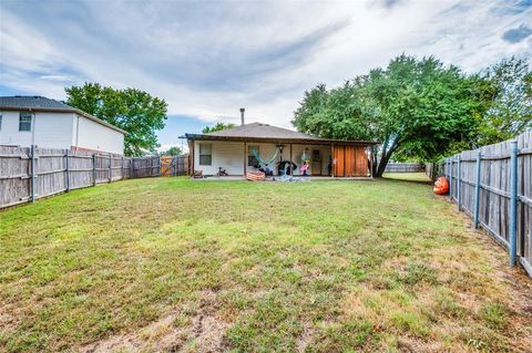
[[[358,143],[377,144],[364,141],[344,141],[319,138],[316,136],[298,133],[293,129],[272,126],[263,123],[250,123],[232,128],[222,129],[208,134],[186,134],[190,139],[209,139],[209,141],[270,141],[270,142],[305,142],[305,143]]]

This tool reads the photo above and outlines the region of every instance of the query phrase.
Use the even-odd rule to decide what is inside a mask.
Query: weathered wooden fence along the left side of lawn
[[[160,175],[158,156],[0,146],[0,208],[101,183]]]

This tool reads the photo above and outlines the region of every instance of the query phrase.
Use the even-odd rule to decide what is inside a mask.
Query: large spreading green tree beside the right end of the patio
[[[381,143],[374,154],[379,177],[393,154],[431,159],[467,144],[487,110],[491,86],[481,81],[434,58],[403,54],[342,86],[305,92],[293,124],[321,137]]]

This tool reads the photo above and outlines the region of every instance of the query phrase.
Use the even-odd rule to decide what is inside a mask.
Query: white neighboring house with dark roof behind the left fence
[[[43,96],[0,96],[0,145],[124,154],[126,132]]]

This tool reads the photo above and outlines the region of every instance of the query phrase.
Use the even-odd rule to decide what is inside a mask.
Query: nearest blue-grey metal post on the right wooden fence
[[[518,142],[511,142],[510,154],[510,267],[518,259]]]

